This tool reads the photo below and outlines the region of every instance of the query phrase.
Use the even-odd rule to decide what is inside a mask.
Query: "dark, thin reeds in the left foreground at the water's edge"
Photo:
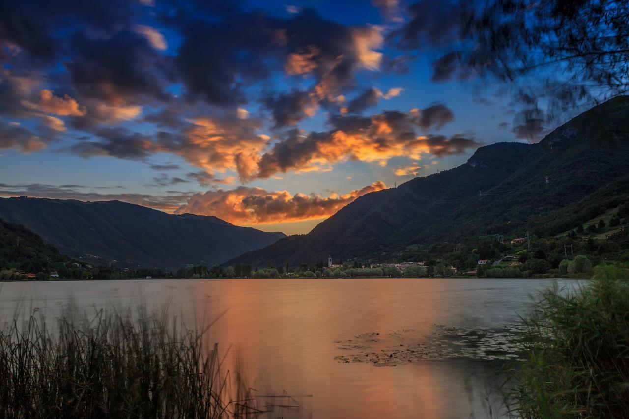
[[[250,389],[208,344],[210,326],[188,329],[145,309],[6,323],[0,418],[256,416]]]

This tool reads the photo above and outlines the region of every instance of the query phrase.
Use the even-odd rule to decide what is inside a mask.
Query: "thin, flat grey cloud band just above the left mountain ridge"
[[[156,210],[172,212],[186,203],[191,194],[169,191],[165,195],[139,193],[98,193],[91,189],[109,189],[83,185],[51,184],[4,184],[0,183],[0,196],[30,196],[31,198],[76,199],[77,201],[124,201],[131,204],[148,206]],[[111,188],[120,188],[113,186]]]

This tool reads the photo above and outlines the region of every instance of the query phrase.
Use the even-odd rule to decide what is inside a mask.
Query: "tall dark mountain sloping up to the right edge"
[[[270,260],[294,266],[328,255],[387,260],[392,250],[413,243],[487,234],[523,237],[528,229],[544,235],[550,233],[544,228],[548,223],[563,223],[564,230],[576,226],[579,220],[561,210],[599,189],[616,182],[615,193],[629,191],[629,182],[622,181],[627,175],[629,96],[619,96],[539,143],[481,147],[459,167],[366,194],[307,235],[283,238],[226,265],[260,266]]]

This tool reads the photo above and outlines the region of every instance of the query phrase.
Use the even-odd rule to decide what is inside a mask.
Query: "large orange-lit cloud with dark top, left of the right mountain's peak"
[[[420,136],[417,128],[440,128],[452,120],[450,109],[435,104],[410,113],[384,111],[369,118],[335,116],[330,131],[303,133],[292,130],[272,145],[257,162],[257,171],[241,174],[242,179],[266,178],[288,170],[325,170],[329,165],[345,160],[360,160],[386,164],[392,157],[406,156],[420,160],[421,154],[459,154],[462,147],[480,143],[455,136],[444,142],[440,136]]]

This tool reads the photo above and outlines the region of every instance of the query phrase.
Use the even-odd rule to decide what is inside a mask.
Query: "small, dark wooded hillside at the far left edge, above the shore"
[[[24,226],[0,219],[0,271],[20,269],[41,272],[53,263],[69,260]]]

